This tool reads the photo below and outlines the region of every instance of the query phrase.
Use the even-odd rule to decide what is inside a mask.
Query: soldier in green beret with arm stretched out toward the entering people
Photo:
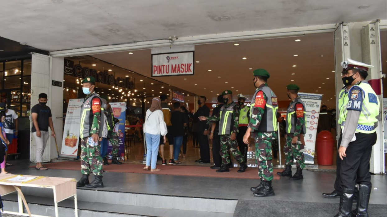
[[[221,136],[221,148],[220,155],[222,157],[222,166],[218,173],[228,172],[230,163],[230,156],[228,149],[234,156],[236,161],[239,162],[240,168],[238,173],[243,173],[247,169],[246,159],[240,153],[238,149],[238,142],[236,141],[236,134],[238,133],[238,120],[239,120],[239,106],[233,102],[233,92],[231,90],[225,90],[222,93],[224,105],[221,107],[220,112],[212,117],[199,117],[199,120],[208,120],[210,122],[219,121],[219,135]],[[211,134],[214,132],[211,131]]]

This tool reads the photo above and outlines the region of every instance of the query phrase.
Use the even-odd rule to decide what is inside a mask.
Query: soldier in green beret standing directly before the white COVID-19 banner
[[[280,176],[291,176],[291,165],[293,165],[293,159],[295,158],[297,161],[297,171],[289,180],[300,180],[303,179],[302,169],[305,168],[304,134],[307,132],[305,105],[298,96],[300,87],[290,84],[286,88],[288,89],[288,97],[292,100],[286,114],[286,144],[284,146],[286,168],[277,174]]]

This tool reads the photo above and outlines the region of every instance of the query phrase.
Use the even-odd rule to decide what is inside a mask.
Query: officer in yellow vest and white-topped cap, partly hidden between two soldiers
[[[245,105],[246,97],[242,94],[238,94],[238,105],[240,107],[239,114],[239,132],[236,135],[236,141],[238,141],[238,147],[241,154],[247,160],[247,144],[243,142],[243,136],[247,131],[248,121],[250,120],[250,106]]]

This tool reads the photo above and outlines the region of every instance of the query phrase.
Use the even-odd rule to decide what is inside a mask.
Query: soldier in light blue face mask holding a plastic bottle
[[[82,178],[77,182],[77,187],[103,188],[102,158],[100,137],[107,136],[105,115],[101,108],[102,100],[94,92],[95,78],[87,77],[82,81],[82,90],[86,94],[81,107],[80,122],[80,162]],[[89,183],[90,173],[95,180]]]

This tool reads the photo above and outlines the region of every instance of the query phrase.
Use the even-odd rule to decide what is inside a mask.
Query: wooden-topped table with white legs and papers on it
[[[21,191],[21,187],[34,187],[34,188],[51,188],[54,194],[55,204],[55,216],[59,216],[58,202],[66,200],[67,198],[74,197],[75,217],[78,217],[78,203],[77,203],[77,187],[76,180],[73,178],[58,178],[58,177],[47,177],[47,176],[28,176],[20,175],[25,177],[36,177],[30,181],[9,181],[11,178],[15,178],[18,175],[14,174],[0,174],[0,195],[7,195],[17,191],[17,200],[19,203],[19,212],[4,211],[7,214],[24,215],[30,217],[43,217],[43,215],[32,215],[26,199]],[[23,211],[23,203],[27,209],[28,214]]]

